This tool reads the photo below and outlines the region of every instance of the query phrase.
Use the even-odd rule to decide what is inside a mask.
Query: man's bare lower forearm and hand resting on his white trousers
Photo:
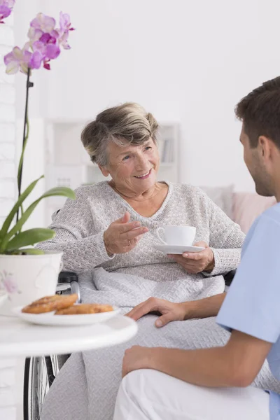
[[[233,331],[223,347],[180,350],[134,346],[125,352],[123,376],[137,369],[154,369],[190,384],[248,386],[258,374],[272,344]]]

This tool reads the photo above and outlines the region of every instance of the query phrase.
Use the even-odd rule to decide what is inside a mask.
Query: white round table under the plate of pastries
[[[100,349],[128,341],[137,323],[123,315],[84,326],[35,325],[0,315],[0,357],[46,356]]]

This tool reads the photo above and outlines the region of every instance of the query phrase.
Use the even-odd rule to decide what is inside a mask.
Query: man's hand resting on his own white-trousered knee
[[[123,358],[123,377],[132,370],[153,369],[152,356],[154,349],[150,347],[132,346],[125,350]]]

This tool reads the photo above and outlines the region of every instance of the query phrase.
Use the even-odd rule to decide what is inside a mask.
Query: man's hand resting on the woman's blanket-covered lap
[[[149,297],[145,302],[137,304],[127,316],[137,321],[141,316],[144,316],[152,311],[157,311],[162,314],[155,321],[156,327],[163,327],[171,321],[184,321],[191,317],[188,313],[188,304],[191,306],[191,302],[173,303],[169,300],[158,299],[158,297]],[[189,308],[190,309],[190,308]]]

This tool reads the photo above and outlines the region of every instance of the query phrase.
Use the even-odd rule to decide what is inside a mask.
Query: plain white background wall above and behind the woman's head
[[[139,102],[159,120],[181,122],[181,181],[254,189],[233,110],[279,75],[278,0],[35,3],[57,18],[70,13],[76,31],[72,49],[38,71],[33,116],[88,119]]]

